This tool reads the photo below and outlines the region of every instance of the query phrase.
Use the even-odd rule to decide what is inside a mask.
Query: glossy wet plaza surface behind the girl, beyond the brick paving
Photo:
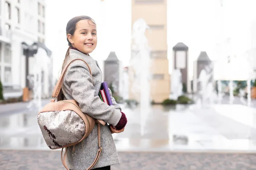
[[[125,108],[128,124],[113,134],[119,151],[256,151],[256,108],[177,105]],[[37,112],[0,114],[0,149],[49,150]]]

